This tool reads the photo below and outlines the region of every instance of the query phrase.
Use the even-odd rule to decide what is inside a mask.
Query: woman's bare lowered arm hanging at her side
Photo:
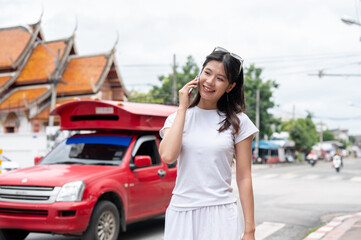
[[[251,175],[252,140],[253,136],[249,136],[236,144],[236,180],[245,225],[242,240],[255,239],[254,198]]]

